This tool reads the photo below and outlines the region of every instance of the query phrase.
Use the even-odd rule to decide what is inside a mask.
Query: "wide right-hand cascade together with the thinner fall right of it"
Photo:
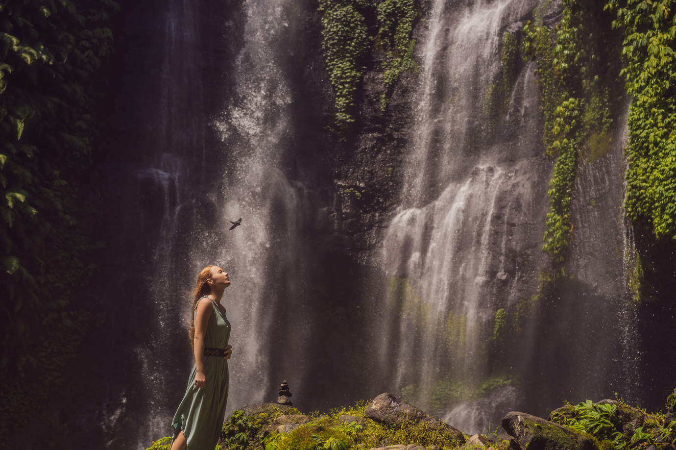
[[[486,120],[485,108],[495,86],[491,83],[500,76],[503,33],[520,28],[537,5],[525,0],[433,3],[420,51],[418,122],[404,167],[411,181],[384,241],[389,285],[384,307],[391,321],[381,329],[387,342],[381,345],[381,360],[394,360],[392,384],[405,399],[443,414],[465,432],[485,431],[491,420],[496,424],[506,404],[530,403],[523,392],[504,386],[515,373],[491,372],[489,353],[493,340],[502,339],[493,332],[493,323],[499,331],[498,321],[504,320],[500,311],[514,311],[517,302],[527,305],[524,299],[537,292],[538,268],[547,266],[539,247],[551,166],[537,158],[543,150],[537,139],[541,129],[533,64],[516,77],[497,131]],[[555,10],[556,5],[546,2],[544,8]],[[546,12],[539,12],[540,20]],[[620,346],[610,332],[617,330],[612,319],[595,324],[606,330],[598,345],[558,347],[566,345],[568,338],[562,336],[594,334],[594,325],[579,321],[600,311],[612,317],[627,300],[621,293],[621,262],[612,262],[613,252],[622,248],[616,219],[622,202],[621,155],[616,142],[603,162],[586,164],[573,196],[575,242],[594,242],[598,260],[590,261],[589,249],[580,247],[587,257],[573,250],[569,270],[593,285],[594,292],[588,300],[583,292],[568,294],[581,300],[560,298],[561,322],[548,331],[550,343],[538,349],[535,336],[524,336],[532,347],[532,356],[525,358],[530,362],[514,361],[511,367],[523,363],[522,371],[528,367],[544,374],[546,360],[550,368],[571,361],[565,370],[569,379],[579,380],[574,395],[602,395],[600,380],[617,375],[611,376],[610,368],[609,354],[617,355],[619,350],[612,349]],[[580,202],[602,206],[585,209],[588,205]],[[605,286],[598,288],[597,279]],[[546,342],[542,335],[548,332],[538,338]],[[562,352],[566,357],[556,357]],[[597,363],[593,376],[581,362],[590,357]],[[483,398],[457,403],[477,396]]]

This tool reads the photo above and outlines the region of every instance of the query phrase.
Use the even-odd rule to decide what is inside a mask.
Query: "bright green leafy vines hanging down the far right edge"
[[[622,74],[631,95],[625,209],[676,240],[676,14],[672,0],[610,0],[624,30]]]

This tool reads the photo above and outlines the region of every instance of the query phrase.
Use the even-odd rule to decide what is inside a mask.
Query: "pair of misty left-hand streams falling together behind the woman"
[[[235,349],[229,361],[228,413],[245,403],[270,401],[274,384],[281,381],[269,379],[272,371],[294,386],[304,376],[299,361],[308,343],[306,318],[296,305],[301,302],[297,239],[303,188],[284,173],[295,137],[288,82],[293,46],[288,45],[299,39],[297,5],[289,0],[243,5],[241,48],[228,68],[234,87],[227,88],[233,94],[211,123],[204,116],[206,99],[199,97],[202,87],[194,84],[200,77],[197,16],[203,11],[181,0],[166,8],[160,114],[154,119],[162,150],[149,160],[150,168],[135,171],[132,188],[132,195],[147,198],[152,209],[141,205],[127,225],[137,235],[157,237],[143,261],[149,270],[140,300],[149,303],[149,320],[141,321],[143,344],[133,348],[139,366],[135,389],[143,398],[136,395],[132,406],[122,401],[107,415],[102,426],[112,437],[109,447],[145,449],[168,434],[193,364],[185,338],[189,292],[206,265],[222,266],[233,282],[223,298]],[[181,108],[188,105],[197,117],[178,125],[186,113]],[[205,143],[208,128],[220,143]],[[145,223],[145,217],[152,220]],[[240,217],[242,225],[228,231],[230,221]],[[280,298],[291,302],[281,305]],[[282,309],[295,309],[293,323],[281,323]],[[290,326],[293,333],[285,332]],[[283,333],[292,355],[281,348],[275,332]],[[122,420],[131,424],[121,435],[116,430]]]

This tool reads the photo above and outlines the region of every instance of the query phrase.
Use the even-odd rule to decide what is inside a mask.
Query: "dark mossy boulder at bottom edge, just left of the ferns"
[[[594,450],[592,439],[554,422],[527,413],[511,411],[502,419],[502,428],[512,436],[514,450]]]

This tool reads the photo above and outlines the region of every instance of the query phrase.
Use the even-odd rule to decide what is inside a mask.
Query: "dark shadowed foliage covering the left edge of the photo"
[[[61,382],[87,315],[68,309],[93,266],[82,254],[97,213],[78,196],[112,0],[1,6],[0,445]],[[49,348],[49,351],[45,350]],[[11,420],[9,420],[11,417]]]

